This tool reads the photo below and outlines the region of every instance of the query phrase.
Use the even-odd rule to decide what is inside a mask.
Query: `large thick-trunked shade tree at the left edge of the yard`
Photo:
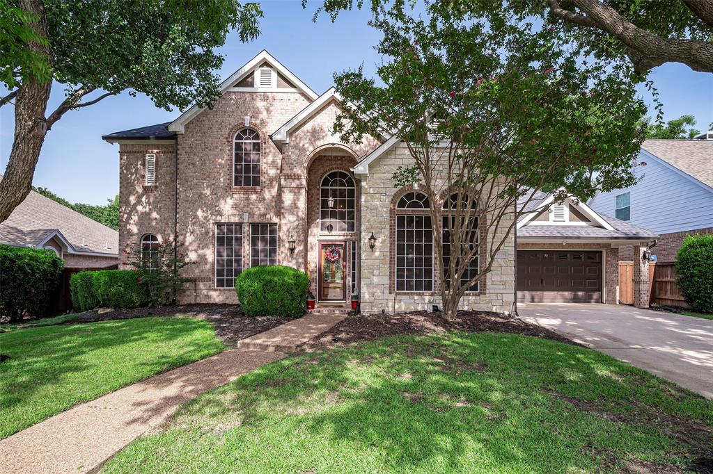
[[[128,90],[158,107],[210,105],[215,48],[260,33],[260,6],[236,0],[0,0],[0,107],[15,109],[0,222],[29,194],[47,132],[70,110]],[[53,83],[66,98],[47,110]]]

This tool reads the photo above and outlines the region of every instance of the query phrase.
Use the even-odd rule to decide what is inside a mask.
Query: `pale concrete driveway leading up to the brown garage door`
[[[713,399],[713,320],[576,303],[518,303],[518,314]]]

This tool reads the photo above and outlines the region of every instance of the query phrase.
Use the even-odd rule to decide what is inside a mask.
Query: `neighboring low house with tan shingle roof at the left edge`
[[[0,223],[0,243],[46,248],[65,268],[106,268],[119,260],[117,231],[36,191]]]

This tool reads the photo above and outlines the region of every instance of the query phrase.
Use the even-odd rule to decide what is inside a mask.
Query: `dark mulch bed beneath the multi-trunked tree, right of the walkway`
[[[379,337],[443,334],[450,331],[507,332],[581,345],[552,330],[498,312],[458,311],[451,321],[440,314],[416,311],[395,315],[350,315],[304,344],[304,347],[334,347]]]

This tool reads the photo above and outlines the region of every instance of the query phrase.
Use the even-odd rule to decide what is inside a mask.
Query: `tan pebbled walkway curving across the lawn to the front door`
[[[86,473],[138,436],[160,428],[178,406],[282,359],[344,315],[307,315],[193,364],[101,396],[0,441],[0,473]]]

